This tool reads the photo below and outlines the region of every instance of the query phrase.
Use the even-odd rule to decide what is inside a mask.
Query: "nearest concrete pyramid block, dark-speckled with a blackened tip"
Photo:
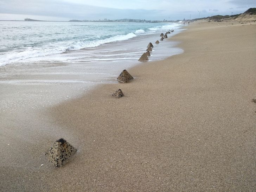
[[[76,151],[69,142],[61,138],[53,143],[52,147],[45,153],[45,156],[54,166],[59,167]]]

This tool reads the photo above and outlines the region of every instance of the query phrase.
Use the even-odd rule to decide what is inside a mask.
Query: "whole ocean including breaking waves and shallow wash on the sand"
[[[149,42],[149,60],[183,52],[160,33],[181,31],[177,23],[0,21],[0,112],[46,107],[99,83],[117,83]],[[7,91],[8,89],[8,91]]]

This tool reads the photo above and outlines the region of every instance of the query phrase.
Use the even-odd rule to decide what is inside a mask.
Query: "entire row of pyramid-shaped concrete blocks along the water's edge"
[[[167,33],[165,34],[165,36],[163,33],[161,33],[160,36],[162,38],[167,38]],[[157,40],[155,43],[158,44],[159,41]],[[148,56],[150,56],[149,51],[152,51],[152,47],[152,43],[149,43],[147,46],[147,52],[143,53],[141,56],[142,60],[148,60]],[[147,59],[145,59],[145,57]],[[130,80],[133,79],[133,76],[130,75],[130,73],[124,69],[116,79],[121,83],[128,83]],[[112,94],[112,96],[115,98],[120,98],[124,95],[122,90],[118,89]],[[66,160],[69,159],[70,156],[72,156],[74,153],[76,153],[76,151],[77,149],[75,149],[69,142],[61,138],[53,143],[51,148],[45,153],[45,156],[47,160],[51,162],[51,164],[53,164],[56,167],[60,167],[64,165]]]

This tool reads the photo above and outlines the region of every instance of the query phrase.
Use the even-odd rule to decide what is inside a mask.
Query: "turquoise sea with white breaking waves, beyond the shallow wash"
[[[76,62],[58,55],[175,29],[175,23],[0,21],[0,66],[38,60]],[[81,59],[78,59],[81,60]]]

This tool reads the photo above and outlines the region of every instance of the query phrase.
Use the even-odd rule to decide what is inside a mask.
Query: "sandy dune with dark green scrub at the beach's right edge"
[[[256,8],[249,8],[247,11],[237,15],[214,15],[212,17],[204,17],[199,19],[192,19],[191,22],[222,22],[222,21],[256,21]]]

